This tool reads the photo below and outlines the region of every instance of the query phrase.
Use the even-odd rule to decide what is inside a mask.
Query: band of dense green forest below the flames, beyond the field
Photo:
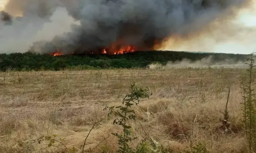
[[[63,68],[142,68],[151,63],[162,64],[168,61],[181,61],[190,59],[197,61],[205,57],[212,56],[214,62],[232,59],[233,61],[245,61],[247,55],[244,54],[224,54],[224,53],[192,53],[178,51],[137,51],[133,53],[107,55],[107,54],[73,54],[63,56],[52,56],[49,54],[40,55],[38,53],[11,53],[0,54],[0,70],[6,71],[15,69],[18,71],[30,70],[61,70]]]

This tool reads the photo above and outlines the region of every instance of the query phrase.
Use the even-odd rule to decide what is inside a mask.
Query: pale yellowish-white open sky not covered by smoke
[[[251,8],[243,9],[239,16],[233,22],[240,25],[241,29],[237,30],[236,37],[232,37],[224,42],[217,42],[216,37],[211,34],[203,34],[188,40],[176,40],[170,38],[162,45],[159,50],[176,50],[176,51],[200,51],[215,53],[234,53],[249,54],[256,52],[256,0]],[[0,10],[3,10],[7,0],[0,0]],[[248,32],[241,32],[250,28]],[[218,30],[218,29],[215,29]],[[246,30],[244,30],[246,31]],[[225,31],[222,31],[222,33]],[[220,33],[221,34],[221,33]],[[179,42],[179,43],[177,43]]]

